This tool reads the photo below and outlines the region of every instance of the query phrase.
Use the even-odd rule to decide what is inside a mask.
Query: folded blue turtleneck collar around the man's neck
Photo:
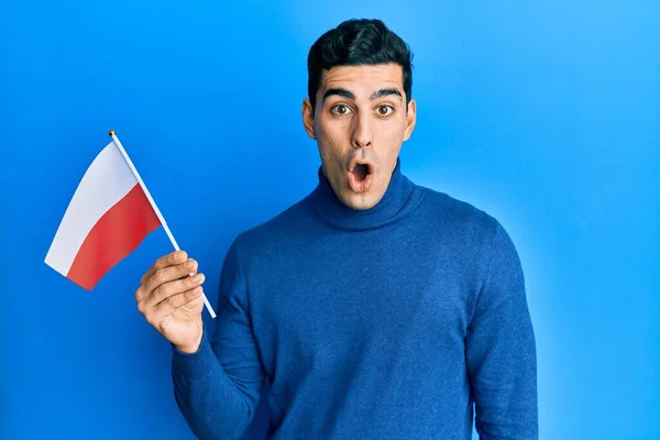
[[[392,178],[381,200],[366,210],[356,210],[345,206],[334,194],[322,168],[318,168],[318,185],[308,198],[311,208],[327,222],[348,230],[377,228],[396,220],[404,215],[414,185],[402,174],[400,158],[397,157]]]

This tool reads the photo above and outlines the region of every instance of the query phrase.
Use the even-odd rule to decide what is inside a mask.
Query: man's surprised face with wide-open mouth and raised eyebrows
[[[302,119],[317,140],[323,174],[348,207],[374,207],[415,127],[415,101],[406,112],[402,67],[333,67],[323,73],[316,98],[314,113],[305,100]]]

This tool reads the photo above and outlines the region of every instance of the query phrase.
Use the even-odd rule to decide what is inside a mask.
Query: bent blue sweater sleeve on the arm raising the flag
[[[215,338],[205,327],[197,352],[173,346],[176,404],[199,439],[240,439],[254,417],[264,377],[237,244],[230,246],[220,275]]]

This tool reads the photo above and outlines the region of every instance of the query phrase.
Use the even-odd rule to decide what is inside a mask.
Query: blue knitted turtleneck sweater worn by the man
[[[536,439],[520,263],[492,217],[406,178],[345,207],[318,187],[240,234],[213,334],[174,349],[197,437],[239,439],[270,384],[272,439]],[[473,406],[474,405],[474,406]]]

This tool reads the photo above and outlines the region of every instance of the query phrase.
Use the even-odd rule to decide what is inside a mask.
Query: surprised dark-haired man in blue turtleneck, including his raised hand
[[[312,45],[308,69],[318,186],[233,241],[213,338],[185,252],[156,261],[135,294],[173,344],[193,431],[240,438],[265,380],[275,439],[470,439],[474,413],[482,439],[536,439],[514,244],[400,170],[416,120],[408,46],[381,21],[352,20]]]

